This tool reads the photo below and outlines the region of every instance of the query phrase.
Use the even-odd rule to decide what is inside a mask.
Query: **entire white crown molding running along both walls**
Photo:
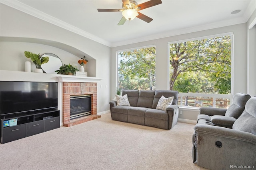
[[[160,38],[167,38],[170,36],[177,36],[177,35],[181,35],[181,34],[188,34],[188,33],[192,33],[192,32],[210,30],[210,29],[220,28],[220,27],[224,27],[224,26],[242,24],[242,23],[245,23],[248,21],[248,19],[250,18],[250,16],[256,9],[255,8],[256,1],[251,0],[250,4],[246,8],[246,11],[244,12],[244,15],[240,18],[211,23],[211,24],[202,25],[202,26],[195,26],[195,27],[185,28],[185,29],[180,29],[180,30],[170,30],[168,32],[164,32],[164,33],[160,33],[160,34],[154,34],[154,35],[145,36],[145,37],[136,38],[136,39],[127,40],[127,41],[122,41],[122,42],[110,43],[110,42],[107,42],[106,40],[103,40],[103,39],[101,39],[97,36],[94,36],[88,32],[85,32],[84,30],[76,28],[66,22],[58,20],[57,18],[54,18],[44,12],[41,12],[41,11],[36,10],[35,8],[32,8],[26,4],[23,4],[22,2],[19,2],[17,0],[1,0],[0,3],[10,6],[12,8],[15,8],[16,10],[20,10],[26,14],[29,14],[31,16],[34,16],[36,18],[39,18],[41,20],[44,20],[44,21],[54,24],[56,26],[59,26],[60,28],[64,28],[70,32],[74,32],[80,36],[83,36],[83,37],[93,40],[95,42],[106,45],[108,47],[118,47],[118,46],[132,44],[132,43],[145,42],[145,41],[156,40],[156,39],[160,39]]]

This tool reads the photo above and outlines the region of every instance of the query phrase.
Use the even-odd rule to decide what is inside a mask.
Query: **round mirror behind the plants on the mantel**
[[[49,61],[41,65],[42,69],[46,73],[56,74],[55,71],[60,69],[62,61],[60,58],[52,53],[45,53],[41,57],[49,57]]]

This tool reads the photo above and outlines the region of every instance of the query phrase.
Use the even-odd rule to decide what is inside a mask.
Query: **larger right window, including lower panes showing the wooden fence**
[[[231,35],[170,44],[170,90],[181,93],[180,105],[229,106],[231,47]]]

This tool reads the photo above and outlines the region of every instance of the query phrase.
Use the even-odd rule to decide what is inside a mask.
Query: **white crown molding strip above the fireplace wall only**
[[[49,22],[51,24],[54,24],[56,26],[59,26],[60,28],[64,28],[68,31],[74,32],[74,33],[76,33],[80,36],[83,36],[85,38],[89,38],[90,40],[93,40],[95,42],[101,43],[106,46],[110,46],[109,42],[107,42],[97,36],[94,36],[88,32],[85,32],[84,30],[76,28],[66,22],[63,22],[57,18],[54,18],[42,11],[36,10],[35,8],[32,8],[26,4],[23,4],[22,2],[19,2],[17,0],[1,0],[0,3],[10,6],[16,10],[22,11],[22,12],[29,14],[31,16],[34,16],[36,18],[39,18],[41,20],[44,20],[46,22]]]

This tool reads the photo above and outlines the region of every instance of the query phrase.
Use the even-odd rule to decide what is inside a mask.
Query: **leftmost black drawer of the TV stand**
[[[3,129],[3,138],[1,143],[7,143],[26,137],[26,125],[17,125]]]

